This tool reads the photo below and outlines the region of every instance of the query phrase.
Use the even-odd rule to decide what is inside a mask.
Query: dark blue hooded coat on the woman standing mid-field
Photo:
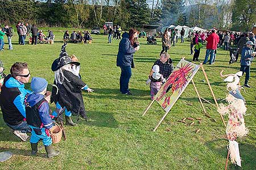
[[[131,66],[133,53],[135,53],[135,49],[131,45],[129,34],[125,32],[122,34],[122,40],[119,42],[117,66]]]

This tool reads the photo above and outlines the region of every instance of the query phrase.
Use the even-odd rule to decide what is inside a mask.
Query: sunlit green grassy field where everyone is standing
[[[17,45],[18,37],[13,37],[14,50],[0,52],[0,59],[5,63],[5,73],[9,73],[14,62],[27,62],[32,76],[46,78],[53,83],[52,61],[59,56],[63,33],[55,29],[55,43],[34,45]],[[64,31],[64,29],[63,29]],[[6,39],[6,37],[5,37]],[[5,40],[6,41],[6,40]],[[80,120],[78,126],[65,126],[67,141],[57,143],[60,150],[57,158],[47,159],[44,148],[38,156],[30,156],[29,142],[20,140],[11,133],[0,114],[0,152],[11,151],[13,158],[0,163],[0,169],[224,169],[228,141],[225,139],[225,127],[213,105],[204,103],[208,114],[217,120],[205,117],[192,84],[189,84],[180,99],[168,113],[165,120],[156,130],[160,118],[165,113],[159,104],[154,103],[146,116],[144,109],[150,104],[150,88],[146,86],[148,73],[154,61],[159,58],[162,49],[158,45],[146,45],[146,39],[139,39],[141,48],[134,54],[135,69],[130,80],[133,96],[119,92],[119,75],[121,70],[116,66],[118,40],[108,44],[107,36],[93,35],[92,44],[68,44],[69,55],[76,54],[81,62],[82,80],[95,91],[83,92],[85,109],[89,121]],[[7,49],[7,44],[5,45]],[[192,60],[189,42],[179,42],[169,50],[174,66],[181,57]],[[205,48],[201,50],[203,61]],[[214,65],[204,65],[214,94],[220,102],[227,93],[225,83],[219,76],[236,73],[239,63],[228,64],[229,53],[218,50]],[[199,63],[199,62],[197,62]],[[255,135],[255,63],[251,67],[249,83],[254,88],[242,91],[247,102],[246,126],[249,135],[238,139],[242,168],[229,161],[229,169],[256,169],[256,135]],[[199,93],[212,101],[207,83],[204,82],[201,70],[195,75]],[[241,78],[243,84],[244,77]],[[27,84],[30,88],[30,84]],[[51,86],[48,86],[51,90]],[[52,109],[55,105],[51,105]],[[185,126],[178,120],[184,117],[201,117],[201,124]],[[225,120],[228,117],[224,117]],[[75,117],[73,117],[75,120]],[[199,133],[195,133],[200,129]],[[42,146],[40,142],[39,146]]]

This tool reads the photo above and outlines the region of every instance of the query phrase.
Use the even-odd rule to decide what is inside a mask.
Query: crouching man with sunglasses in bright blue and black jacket
[[[24,83],[30,80],[30,71],[27,63],[16,62],[10,69],[11,74],[3,80],[0,94],[0,104],[3,113],[3,120],[6,125],[13,129],[13,133],[28,141],[30,138],[27,132],[31,132],[26,122],[26,109],[24,98],[31,92],[24,88]]]

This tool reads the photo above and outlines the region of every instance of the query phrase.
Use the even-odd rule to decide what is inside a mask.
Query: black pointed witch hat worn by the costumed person
[[[67,42],[65,42],[64,45],[61,47],[59,58],[56,58],[53,61],[52,71],[57,71],[62,66],[67,65],[67,64],[74,64],[77,66],[80,65],[80,62],[72,61],[71,58],[68,56],[68,53],[66,52],[66,46],[67,46]]]

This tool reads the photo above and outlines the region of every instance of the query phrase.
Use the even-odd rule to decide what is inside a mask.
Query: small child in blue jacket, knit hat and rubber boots
[[[59,155],[59,151],[53,150],[52,138],[49,129],[53,127],[52,118],[49,114],[49,104],[44,95],[47,88],[46,79],[33,77],[31,80],[32,94],[27,95],[24,100],[26,105],[27,124],[32,129],[30,144],[31,155],[38,152],[38,142],[40,139],[46,148],[47,158]]]

